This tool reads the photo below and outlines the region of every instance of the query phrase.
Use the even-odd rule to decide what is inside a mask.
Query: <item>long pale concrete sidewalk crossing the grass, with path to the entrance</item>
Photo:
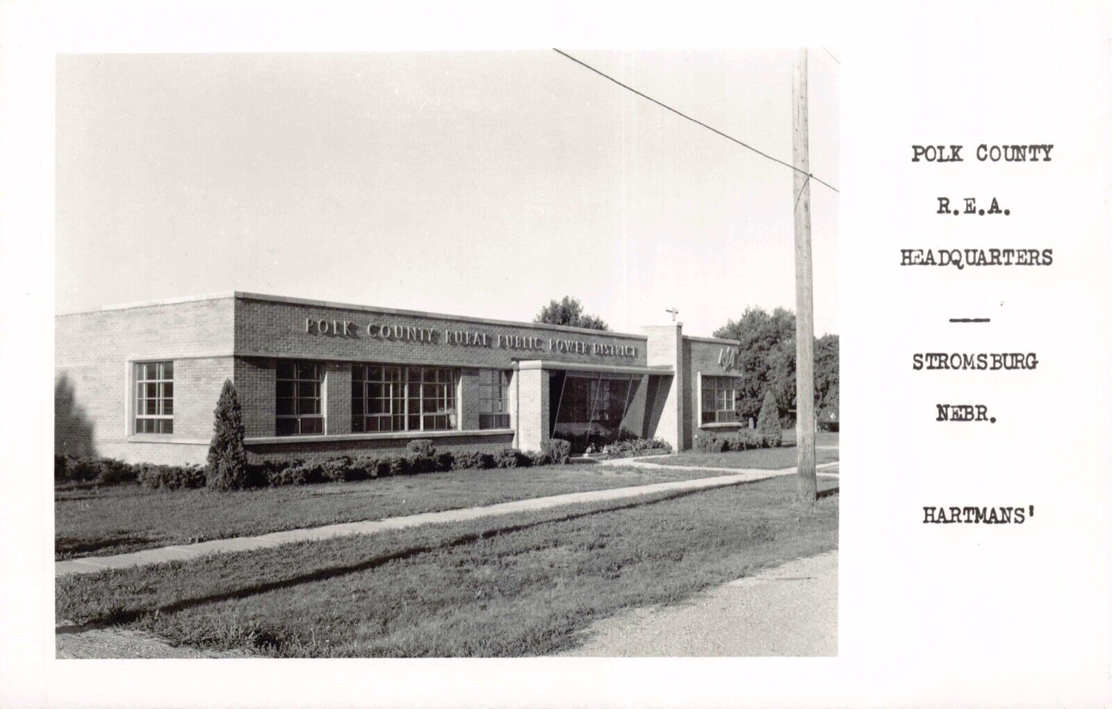
[[[603,461],[599,465],[623,465],[649,468],[668,468],[674,470],[693,470],[686,466],[662,466],[645,462],[643,459],[626,458],[615,461]],[[820,469],[830,469],[834,463],[818,466]],[[419,525],[435,525],[445,522],[458,522],[478,519],[481,517],[494,517],[496,515],[509,515],[513,512],[525,512],[530,510],[542,510],[565,505],[578,505],[583,502],[597,502],[603,500],[620,500],[634,498],[654,492],[679,492],[686,490],[701,490],[705,488],[718,488],[743,482],[753,482],[778,476],[792,475],[795,468],[783,470],[738,470],[736,468],[697,468],[697,470],[725,471],[729,475],[714,478],[697,478],[694,480],[677,480],[674,482],[657,482],[653,485],[642,485],[627,488],[612,488],[609,490],[592,490],[589,492],[570,492],[567,495],[554,495],[550,497],[517,500],[514,502],[502,502],[499,505],[488,505],[486,507],[468,507],[455,510],[444,510],[440,512],[425,512],[421,515],[408,515],[405,517],[390,517],[379,520],[367,520],[360,522],[344,522],[339,525],[327,525],[324,527],[311,527],[307,529],[291,529],[288,531],[271,532],[259,537],[235,537],[231,539],[214,539],[195,545],[182,545],[176,547],[160,547],[157,549],[145,549],[132,553],[120,553],[108,557],[82,557],[80,559],[66,559],[54,562],[54,576],[67,573],[92,573],[103,569],[122,569],[127,567],[145,566],[148,563],[160,563],[173,561],[176,559],[196,559],[202,555],[222,553],[228,551],[247,551],[251,549],[264,549],[278,545],[295,541],[309,541],[330,539],[345,535],[373,535],[391,529],[405,529]],[[821,475],[834,475],[830,472]]]

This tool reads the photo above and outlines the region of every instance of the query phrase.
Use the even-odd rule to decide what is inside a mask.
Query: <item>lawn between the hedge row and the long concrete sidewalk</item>
[[[54,493],[54,558],[125,553],[715,475],[719,473],[574,465],[456,470],[241,492],[149,491],[138,485],[59,489]]]

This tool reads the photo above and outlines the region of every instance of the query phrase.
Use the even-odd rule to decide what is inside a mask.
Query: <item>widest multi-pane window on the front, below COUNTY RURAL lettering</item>
[[[440,367],[355,365],[351,430],[444,431],[456,428],[456,377]]]

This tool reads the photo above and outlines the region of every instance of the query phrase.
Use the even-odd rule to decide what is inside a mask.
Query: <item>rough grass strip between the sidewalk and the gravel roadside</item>
[[[837,496],[801,511],[794,489],[774,478],[72,575],[56,609],[272,657],[548,655],[623,609],[836,548]]]

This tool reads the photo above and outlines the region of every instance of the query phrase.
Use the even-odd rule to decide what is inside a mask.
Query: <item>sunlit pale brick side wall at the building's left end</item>
[[[54,450],[126,460],[196,462],[212,409],[232,376],[231,298],[58,316],[54,319]],[[129,360],[175,362],[173,433],[129,440],[135,396]],[[148,439],[155,440],[155,439]],[[203,452],[200,456],[203,459]]]

